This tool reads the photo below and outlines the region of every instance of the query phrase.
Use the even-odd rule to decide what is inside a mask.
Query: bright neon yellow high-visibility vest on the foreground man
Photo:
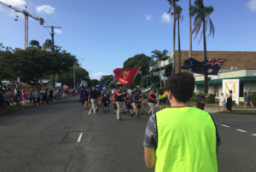
[[[208,112],[192,106],[156,112],[156,172],[217,172],[217,136]]]

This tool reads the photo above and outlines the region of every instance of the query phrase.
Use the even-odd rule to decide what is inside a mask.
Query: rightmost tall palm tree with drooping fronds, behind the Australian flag
[[[207,38],[206,38],[206,32],[207,32],[207,23],[209,20],[209,26],[210,26],[210,34],[208,37],[212,34],[212,37],[214,37],[214,26],[212,24],[212,20],[209,17],[210,14],[213,12],[213,7],[205,7],[203,0],[195,0],[195,6],[191,6],[189,8],[189,15],[195,16],[194,20],[194,29],[192,31],[192,34],[195,32],[195,37],[200,32],[201,24],[203,25],[203,31],[201,32],[201,37],[203,36],[204,40],[204,58],[207,60]],[[201,37],[199,40],[199,43],[201,41]],[[205,75],[205,83],[204,83],[204,92],[208,92],[208,80],[207,75]]]

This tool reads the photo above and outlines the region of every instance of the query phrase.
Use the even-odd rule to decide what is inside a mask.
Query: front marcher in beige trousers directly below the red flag
[[[121,115],[121,110],[125,111],[125,106],[122,101],[122,99],[125,101],[125,94],[126,92],[122,91],[122,87],[119,87],[119,90],[115,92],[115,99],[116,99],[116,106],[117,106],[117,120],[122,121],[122,118],[120,117]]]

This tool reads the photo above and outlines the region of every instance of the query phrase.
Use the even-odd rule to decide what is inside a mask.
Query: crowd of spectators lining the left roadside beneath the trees
[[[68,97],[73,95],[79,95],[78,89],[23,89],[20,90],[19,87],[13,89],[6,89],[5,91],[0,92],[0,114],[7,112],[10,108],[10,105],[21,106],[20,102],[22,101],[22,106],[26,106],[28,101],[29,106],[40,106],[50,104],[55,100],[60,99],[61,97]]]

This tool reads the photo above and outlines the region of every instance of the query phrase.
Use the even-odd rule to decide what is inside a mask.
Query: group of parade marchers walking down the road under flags
[[[137,89],[124,89],[119,87],[113,95],[110,94],[108,89],[99,89],[94,86],[92,89],[84,89],[82,85],[79,102],[84,105],[86,109],[89,109],[88,115],[91,113],[96,114],[99,110],[99,106],[103,106],[103,112],[109,111],[109,104],[113,103],[113,114],[117,115],[117,120],[121,121],[121,113],[129,112],[131,117],[136,116],[140,118],[140,114],[143,114],[143,109],[146,108],[147,114],[154,114],[155,104],[159,104],[161,109],[166,105],[166,91],[163,90],[151,90],[148,94],[142,96],[143,90],[140,86]],[[150,110],[148,111],[148,106]]]

